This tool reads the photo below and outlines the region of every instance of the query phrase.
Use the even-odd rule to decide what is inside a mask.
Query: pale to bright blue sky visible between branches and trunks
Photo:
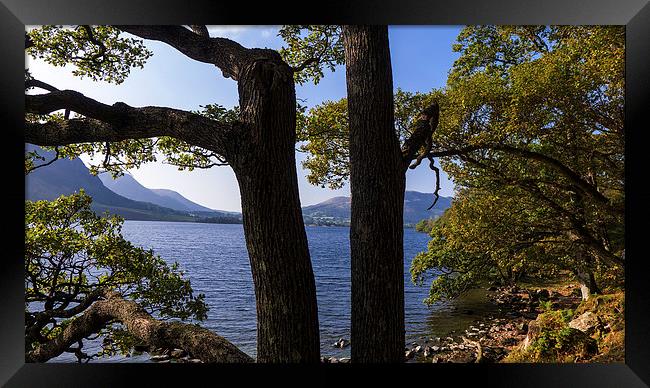
[[[212,37],[230,38],[245,47],[280,49],[283,40],[277,36],[278,26],[209,26]],[[446,84],[447,75],[458,57],[452,52],[461,26],[390,26],[389,43],[393,85],[410,92],[428,92]],[[131,106],[166,106],[198,110],[201,105],[237,105],[237,84],[222,76],[214,65],[196,62],[164,43],[145,41],[153,52],[143,69],[132,69],[120,85],[93,82],[72,76],[72,67],[54,67],[27,57],[32,75],[59,89],[71,89],[106,104],[118,101]],[[345,67],[326,72],[318,83],[296,85],[296,96],[303,105],[313,107],[327,100],[345,97]],[[308,171],[301,161],[306,155],[296,152],[298,185],[302,206],[313,205],[329,198],[350,195],[349,185],[339,190],[321,188],[307,182]],[[85,163],[90,160],[82,156]],[[241,211],[239,187],[230,167],[212,167],[208,170],[179,171],[162,161],[147,163],[129,173],[142,185],[152,189],[171,189],[203,206],[228,211]],[[452,196],[453,183],[441,171],[440,195]],[[408,170],[406,189],[433,192],[435,175],[423,163]]]

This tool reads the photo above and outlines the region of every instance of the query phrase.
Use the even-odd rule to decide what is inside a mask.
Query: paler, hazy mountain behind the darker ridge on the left
[[[194,203],[179,193],[168,189],[148,189],[130,174],[113,179],[110,173],[99,174],[99,179],[109,190],[134,201],[150,202],[163,207],[184,212],[215,212]]]

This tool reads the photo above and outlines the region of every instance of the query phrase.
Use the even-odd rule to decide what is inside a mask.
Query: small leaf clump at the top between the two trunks
[[[294,68],[304,66],[294,73],[298,84],[318,84],[324,69],[334,71],[345,63],[341,26],[287,25],[280,28],[279,35],[287,44],[280,49],[282,58]]]

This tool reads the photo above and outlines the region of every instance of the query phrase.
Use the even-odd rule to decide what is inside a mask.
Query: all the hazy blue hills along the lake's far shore
[[[54,153],[26,145],[49,161]],[[38,164],[38,163],[37,163]],[[53,200],[83,188],[93,198],[96,212],[109,211],[129,220],[193,221],[210,223],[241,223],[241,213],[212,210],[190,201],[168,189],[148,189],[131,175],[114,180],[108,174],[93,176],[80,159],[60,159],[37,169],[25,178],[25,199]],[[110,188],[110,189],[109,189]],[[415,225],[427,218],[437,218],[451,205],[452,198],[440,197],[427,211],[433,194],[407,191],[404,198],[404,224]],[[302,208],[306,224],[349,225],[350,197],[334,197]]]

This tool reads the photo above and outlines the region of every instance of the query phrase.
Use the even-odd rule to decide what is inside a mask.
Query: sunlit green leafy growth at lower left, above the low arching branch
[[[55,338],[105,291],[119,292],[161,319],[205,319],[205,296],[194,295],[178,264],[133,246],[121,235],[122,219],[97,216],[91,202],[83,191],[25,201],[27,348]]]

